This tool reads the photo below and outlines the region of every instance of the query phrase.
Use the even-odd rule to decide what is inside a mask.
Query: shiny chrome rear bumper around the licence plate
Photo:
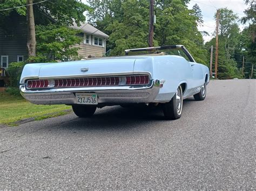
[[[34,104],[76,104],[75,93],[96,93],[98,103],[150,103],[159,93],[159,80],[153,80],[149,86],[132,87],[82,87],[28,90],[25,84],[19,89],[21,95]]]

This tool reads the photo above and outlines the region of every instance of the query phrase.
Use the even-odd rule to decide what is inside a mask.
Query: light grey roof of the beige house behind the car
[[[109,38],[107,34],[104,32],[96,29],[94,26],[90,25],[89,23],[80,23],[80,26],[74,22],[73,26],[70,26],[72,29],[82,30],[86,34],[93,34],[95,36]]]

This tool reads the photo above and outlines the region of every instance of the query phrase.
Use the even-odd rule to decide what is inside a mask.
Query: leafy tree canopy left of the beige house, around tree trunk
[[[69,29],[68,26],[71,26],[73,22],[76,22],[78,26],[80,26],[80,22],[85,22],[84,12],[90,11],[90,7],[79,1],[2,0],[0,10],[7,10],[0,11],[1,26],[9,27],[6,24],[6,20],[8,20],[6,18],[8,17],[24,17],[23,20],[25,20],[28,13],[26,11],[28,6],[25,5],[28,2],[33,4],[32,19],[35,18],[35,24],[37,25],[36,32],[32,31],[33,35],[36,33],[36,42],[33,46],[36,44],[37,55],[43,56],[42,58],[46,58],[46,60],[52,58],[63,60],[77,56],[78,48],[71,46],[80,43],[81,39],[76,36],[79,31]],[[17,6],[21,7],[15,8]],[[31,31],[28,30],[28,36],[30,33]],[[27,46],[29,45],[27,44]],[[36,52],[35,47],[33,50]]]

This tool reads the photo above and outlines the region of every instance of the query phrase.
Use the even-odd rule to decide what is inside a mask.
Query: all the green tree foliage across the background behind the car
[[[0,9],[21,6],[26,0],[0,0]],[[34,0],[33,2],[39,2]],[[211,45],[215,47],[215,38],[204,44],[205,31],[199,31],[198,25],[203,24],[200,7],[195,4],[188,9],[190,0],[155,0],[156,24],[154,25],[154,46],[183,44],[192,53],[197,62],[209,66]],[[255,51],[255,11],[253,0],[246,0],[248,5],[245,17],[238,16],[227,8],[220,9],[219,59],[218,77],[232,79],[234,77],[255,78],[252,63],[256,62]],[[77,56],[79,43],[76,37],[79,31],[68,26],[87,20],[97,29],[109,34],[106,49],[111,49],[111,55],[123,55],[124,49],[148,46],[149,33],[149,1],[148,0],[88,0],[88,5],[79,1],[49,0],[33,5],[37,56],[29,58],[33,62],[48,62],[52,59],[66,60]],[[26,8],[16,8],[0,11],[1,26],[11,13],[25,18]],[[214,18],[215,16],[213,16]],[[240,31],[239,23],[247,24]],[[215,36],[215,34],[214,34]],[[245,58],[244,73],[242,73],[242,58]],[[214,63],[214,58],[213,58]],[[16,65],[14,64],[14,67]],[[254,67],[256,68],[256,67]],[[213,65],[214,72],[214,65]]]

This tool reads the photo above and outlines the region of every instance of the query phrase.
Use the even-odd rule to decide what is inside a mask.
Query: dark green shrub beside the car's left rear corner
[[[19,87],[19,80],[21,79],[22,69],[25,64],[25,62],[12,62],[9,68],[6,69],[9,75],[10,87]]]

